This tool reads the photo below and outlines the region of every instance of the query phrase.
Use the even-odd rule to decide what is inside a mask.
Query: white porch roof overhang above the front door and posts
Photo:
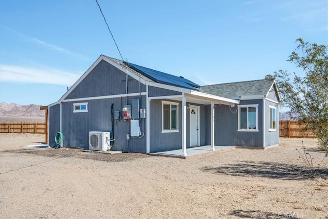
[[[235,106],[235,104],[239,104],[239,101],[235,99],[229,99],[229,98],[203,93],[199,91],[194,91],[194,90],[190,90],[189,92],[183,92],[181,95],[154,96],[154,97],[149,97],[149,99],[171,99],[173,101],[181,101],[182,97],[186,97],[186,101],[189,103],[203,104],[203,105],[211,105],[211,103],[214,103],[214,104]]]

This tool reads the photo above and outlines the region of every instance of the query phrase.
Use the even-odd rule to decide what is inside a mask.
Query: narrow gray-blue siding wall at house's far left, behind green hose
[[[56,147],[55,136],[60,131],[60,105],[49,107],[49,146]]]

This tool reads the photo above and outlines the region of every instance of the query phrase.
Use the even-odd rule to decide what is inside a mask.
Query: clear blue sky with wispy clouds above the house
[[[299,72],[296,38],[328,44],[328,1],[98,3],[124,59],[200,85]],[[0,102],[56,102],[100,54],[120,58],[95,1],[0,1]]]

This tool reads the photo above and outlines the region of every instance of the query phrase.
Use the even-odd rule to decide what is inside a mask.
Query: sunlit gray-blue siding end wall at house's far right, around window
[[[279,107],[276,107],[276,131],[269,131],[269,106],[276,106],[276,104],[265,101],[265,147],[279,144]]]

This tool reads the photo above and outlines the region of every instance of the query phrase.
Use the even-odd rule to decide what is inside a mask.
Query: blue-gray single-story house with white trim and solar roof
[[[279,144],[279,93],[258,80],[199,86],[100,55],[49,107],[49,145],[89,147],[90,131],[110,132],[111,150],[152,153],[210,145],[265,148]]]

